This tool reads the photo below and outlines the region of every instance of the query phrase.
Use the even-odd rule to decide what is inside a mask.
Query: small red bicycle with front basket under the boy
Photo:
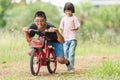
[[[44,36],[39,30],[30,29],[30,31],[40,34],[38,38],[34,38],[30,43],[30,46],[33,47],[30,58],[32,75],[38,75],[42,66],[47,66],[49,73],[55,73],[57,68],[57,57],[54,47],[48,44],[46,36]]]

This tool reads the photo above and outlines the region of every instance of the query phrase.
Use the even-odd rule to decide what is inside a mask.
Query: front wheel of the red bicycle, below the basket
[[[32,55],[30,58],[30,69],[32,75],[36,76],[39,73],[41,67],[41,57],[40,54],[37,53],[36,49],[33,49]]]

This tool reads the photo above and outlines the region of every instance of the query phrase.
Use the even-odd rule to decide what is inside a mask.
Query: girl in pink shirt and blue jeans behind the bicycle
[[[65,39],[64,43],[64,51],[66,58],[69,59],[70,64],[74,66],[74,58],[75,58],[75,49],[77,46],[76,39],[76,31],[78,30],[80,23],[76,16],[73,15],[75,13],[74,5],[70,2],[67,2],[64,6],[64,16],[60,22],[59,31],[62,33]],[[74,72],[75,68],[68,69],[69,72]]]

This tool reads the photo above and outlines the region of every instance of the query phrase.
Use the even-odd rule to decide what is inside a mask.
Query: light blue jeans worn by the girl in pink
[[[64,43],[64,53],[65,57],[70,61],[74,66],[75,61],[75,49],[77,46],[77,40],[69,40]]]

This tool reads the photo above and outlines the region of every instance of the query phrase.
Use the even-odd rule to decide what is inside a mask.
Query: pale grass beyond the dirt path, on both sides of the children
[[[23,33],[0,32],[0,62],[11,62],[26,60],[29,58],[27,51],[28,43],[25,40]],[[81,55],[102,55],[102,54],[117,54],[120,53],[119,45],[96,44],[85,42],[81,44],[78,41],[76,56]]]

